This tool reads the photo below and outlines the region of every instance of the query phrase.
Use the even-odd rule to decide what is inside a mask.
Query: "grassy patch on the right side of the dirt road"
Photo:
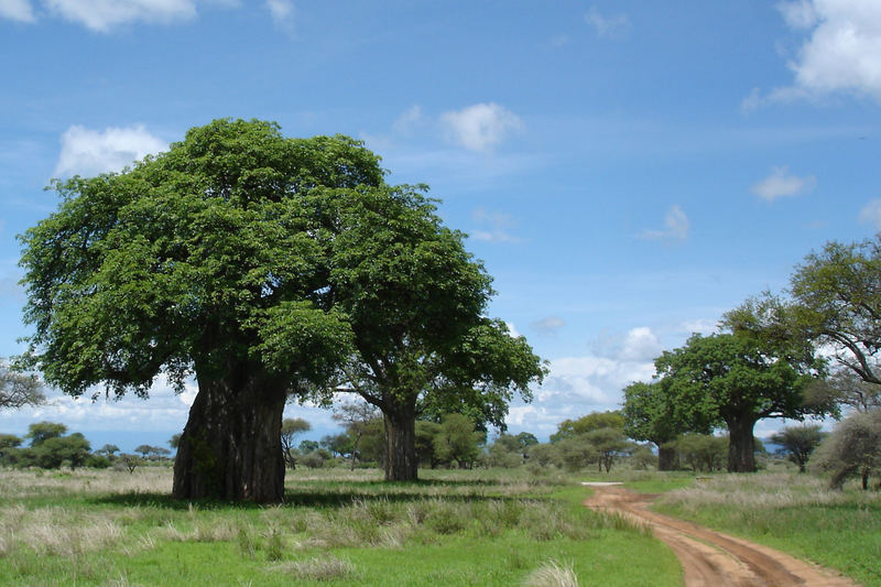
[[[881,493],[796,472],[714,475],[655,509],[837,568],[881,587]]]

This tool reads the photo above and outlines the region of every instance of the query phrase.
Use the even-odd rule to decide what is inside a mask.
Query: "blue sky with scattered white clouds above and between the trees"
[[[0,357],[31,331],[17,235],[57,208],[50,180],[215,118],[348,134],[428,184],[494,278],[490,315],[548,361],[508,417],[540,438],[618,409],[812,250],[881,230],[878,0],[0,0]],[[164,444],[195,393],[50,391],[0,432]]]

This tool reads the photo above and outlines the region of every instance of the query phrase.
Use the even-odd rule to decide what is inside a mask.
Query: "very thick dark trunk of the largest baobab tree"
[[[261,377],[199,378],[174,461],[174,497],[282,502],[284,401]]]

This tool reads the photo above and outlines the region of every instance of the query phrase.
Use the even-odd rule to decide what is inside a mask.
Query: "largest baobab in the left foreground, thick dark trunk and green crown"
[[[178,389],[195,374],[174,494],[282,500],[285,401],[351,354],[326,210],[385,194],[379,157],[347,137],[216,120],[122,173],[54,187],[58,210],[22,237],[25,365],[75,396],[146,396],[159,373]]]

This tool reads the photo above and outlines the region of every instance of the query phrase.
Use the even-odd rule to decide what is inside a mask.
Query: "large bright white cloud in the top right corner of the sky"
[[[809,31],[809,37],[788,64],[794,85],[772,97],[844,91],[881,101],[881,2],[794,0],[779,9],[792,29]]]

